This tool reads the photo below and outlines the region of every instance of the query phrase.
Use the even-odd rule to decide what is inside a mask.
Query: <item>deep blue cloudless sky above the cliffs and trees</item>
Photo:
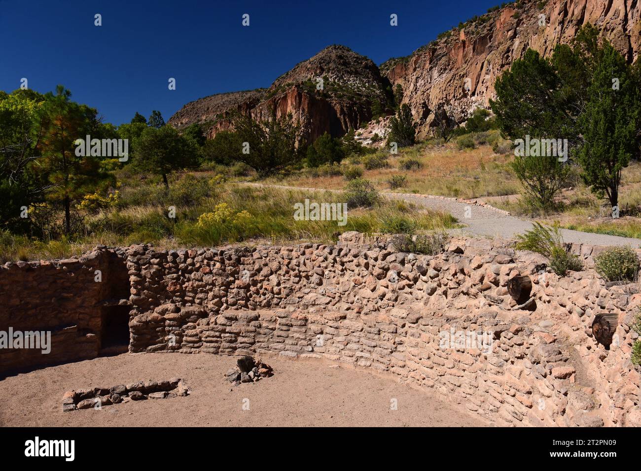
[[[169,119],[206,95],[269,87],[329,44],[377,64],[405,56],[498,0],[0,0],[0,90],[62,83],[121,124]],[[94,26],[94,15],[102,26]],[[250,26],[243,27],[248,13]],[[398,26],[390,26],[390,14]],[[168,79],[176,78],[176,90]]]

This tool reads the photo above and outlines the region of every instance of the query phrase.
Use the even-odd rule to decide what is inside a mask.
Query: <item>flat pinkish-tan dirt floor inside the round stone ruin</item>
[[[263,359],[274,368],[274,376],[238,386],[223,377],[236,359],[209,354],[121,354],[10,376],[0,381],[0,425],[490,425],[391,375],[318,360]],[[67,390],[172,377],[184,379],[191,395],[62,412]],[[397,399],[397,410],[390,408],[392,399]]]

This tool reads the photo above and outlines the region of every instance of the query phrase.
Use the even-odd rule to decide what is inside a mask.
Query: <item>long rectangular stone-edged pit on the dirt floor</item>
[[[121,402],[144,399],[166,399],[186,396],[190,393],[185,381],[172,378],[162,381],[138,381],[132,384],[118,384],[110,388],[91,388],[67,391],[62,397],[63,412],[76,409],[91,409],[120,404]]]

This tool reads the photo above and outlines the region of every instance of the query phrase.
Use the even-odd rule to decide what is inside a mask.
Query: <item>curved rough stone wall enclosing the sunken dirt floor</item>
[[[588,267],[599,250],[573,248]],[[112,261],[126,260],[129,273],[131,352],[326,359],[394,374],[497,425],[641,425],[640,374],[630,361],[641,294],[606,285],[592,269],[541,277],[542,258],[500,242],[452,239],[442,254],[424,256],[397,253],[384,238],[357,233],[337,245],[118,251],[109,253]],[[92,274],[106,252],[77,261],[83,269],[74,275],[75,291],[53,282],[51,265],[7,264],[0,286],[10,279],[37,292],[36,279],[49,273],[55,299],[76,300],[66,301],[65,311],[73,305],[77,325],[89,323],[95,333],[100,327],[90,311],[107,295],[85,270]],[[63,269],[70,264],[60,265],[58,277],[68,277]],[[24,274],[29,270],[31,277]],[[508,279],[517,274],[532,275],[534,311],[519,309],[508,295]],[[10,299],[12,312],[42,318],[37,301]],[[0,307],[0,330],[6,307]],[[618,342],[609,351],[589,333],[599,313],[619,315]],[[490,332],[491,352],[440,349],[440,335],[451,327]]]

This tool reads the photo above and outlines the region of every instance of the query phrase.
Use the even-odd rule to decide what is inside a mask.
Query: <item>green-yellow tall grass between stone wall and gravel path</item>
[[[170,248],[211,247],[263,239],[332,242],[345,231],[376,233],[411,227],[412,231],[420,232],[458,227],[456,219],[449,214],[392,201],[349,210],[344,226],[338,226],[335,220],[295,220],[296,203],[310,199],[342,204],[344,196],[336,192],[310,193],[212,182],[211,176],[206,177],[207,185],[186,176],[183,179],[183,183],[182,179],[174,182],[169,192],[162,188],[162,183],[138,181],[137,185],[126,188],[126,197],[117,208],[85,215],[84,233],[69,240],[43,242],[0,233],[0,261],[66,258],[96,244],[147,243]],[[183,192],[182,187],[192,191]],[[158,192],[158,199],[147,199],[154,192]],[[199,224],[201,215],[216,213],[221,204],[226,204],[231,217]],[[170,217],[170,206],[174,208],[174,218]],[[249,217],[237,217],[242,211],[247,211]]]

